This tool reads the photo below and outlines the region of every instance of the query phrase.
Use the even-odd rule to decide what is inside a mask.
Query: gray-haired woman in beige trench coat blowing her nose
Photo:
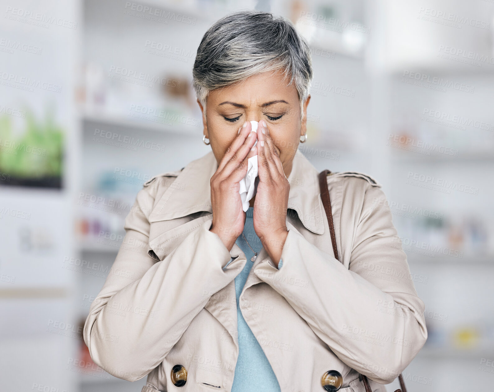
[[[297,153],[307,44],[283,18],[236,12],[206,32],[193,77],[212,151],[137,194],[84,326],[92,359],[125,380],[148,375],[143,392],[363,392],[359,373],[385,391],[427,339],[424,304],[366,174],[327,177],[333,256],[318,172]]]

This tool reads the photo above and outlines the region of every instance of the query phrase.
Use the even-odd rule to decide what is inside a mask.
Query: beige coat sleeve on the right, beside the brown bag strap
[[[280,293],[314,333],[348,366],[391,383],[427,340],[424,303],[391,214],[372,207],[384,198],[367,186],[347,269],[290,228],[283,268],[269,262],[257,276]]]

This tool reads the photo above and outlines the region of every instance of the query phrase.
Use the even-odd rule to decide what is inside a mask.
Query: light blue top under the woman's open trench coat
[[[246,211],[246,224],[244,235],[252,249],[259,254],[262,249],[261,240],[256,235],[253,225],[254,208],[249,207]],[[253,262],[250,258],[254,256],[248,247],[242,234],[235,243],[242,249],[247,257],[244,269],[235,278],[235,293],[237,296],[237,320],[239,334],[239,357],[235,367],[232,392],[277,392],[280,391],[278,380],[269,364],[264,351],[257,342],[254,334],[240,311],[239,297],[247,280]],[[278,269],[282,266],[280,260]]]

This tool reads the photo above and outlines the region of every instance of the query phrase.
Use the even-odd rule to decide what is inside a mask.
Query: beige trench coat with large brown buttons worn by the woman
[[[209,231],[216,169],[209,152],[144,184],[84,325],[93,361],[128,381],[147,375],[142,392],[230,391],[233,384],[234,279],[247,260],[237,244],[228,252]],[[288,180],[283,266],[260,251],[240,297],[242,314],[282,392],[324,392],[329,370],[343,376],[341,392],[365,391],[357,372],[373,392],[385,391],[381,384],[407,367],[427,330],[381,185],[361,173],[328,176],[336,260],[318,171],[297,153]],[[171,382],[174,365],[188,373],[182,387]],[[238,371],[254,374],[255,366]]]

